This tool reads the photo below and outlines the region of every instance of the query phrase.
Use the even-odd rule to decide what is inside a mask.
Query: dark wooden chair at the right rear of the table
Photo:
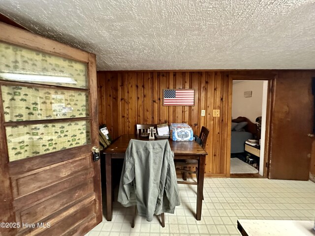
[[[199,137],[198,136],[195,137],[195,141],[197,143],[199,143],[203,149],[205,149],[205,147],[206,147],[209,132],[210,132],[209,129],[207,129],[205,126],[202,126]],[[197,185],[197,182],[186,181],[187,180],[187,173],[196,174],[196,177],[198,180],[197,165],[198,165],[197,160],[176,161],[175,166],[179,167],[179,168],[176,168],[176,170],[182,172],[183,180],[185,180],[185,181],[177,181],[177,183]],[[195,168],[196,170],[191,171],[190,170],[191,167]]]

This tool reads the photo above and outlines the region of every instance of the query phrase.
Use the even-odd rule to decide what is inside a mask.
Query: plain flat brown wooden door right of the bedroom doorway
[[[311,78],[312,71],[282,71],[276,78],[269,178],[309,179],[313,141],[308,136],[313,129]]]

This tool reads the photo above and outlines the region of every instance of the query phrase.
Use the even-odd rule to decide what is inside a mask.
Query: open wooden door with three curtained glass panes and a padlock
[[[84,235],[102,220],[95,55],[0,32],[1,233]]]

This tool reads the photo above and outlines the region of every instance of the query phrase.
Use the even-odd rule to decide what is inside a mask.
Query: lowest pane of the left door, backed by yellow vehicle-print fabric
[[[9,161],[90,144],[90,127],[87,120],[8,126]]]

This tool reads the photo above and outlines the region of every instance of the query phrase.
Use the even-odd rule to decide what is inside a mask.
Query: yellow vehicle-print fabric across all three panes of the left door
[[[25,74],[30,79],[25,79]],[[73,83],[65,83],[65,79],[55,76],[65,76]],[[91,143],[86,63],[0,42],[1,80],[30,83],[29,86],[0,86],[4,121],[16,122],[5,125],[9,161]],[[40,84],[81,88],[81,91],[47,88]],[[64,122],[64,118],[83,120]],[[42,120],[47,122],[42,123]],[[20,121],[23,124],[20,125]]]

